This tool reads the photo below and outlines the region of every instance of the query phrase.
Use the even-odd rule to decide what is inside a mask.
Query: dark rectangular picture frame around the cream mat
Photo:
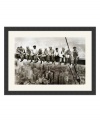
[[[92,90],[91,91],[9,91],[8,89],[9,31],[91,31]],[[96,27],[4,27],[4,94],[5,95],[96,95]]]

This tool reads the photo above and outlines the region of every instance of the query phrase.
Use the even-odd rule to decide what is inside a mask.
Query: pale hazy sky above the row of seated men
[[[70,37],[67,38],[67,41],[69,43],[71,51],[73,50],[73,47],[76,46],[79,52],[79,57],[85,58],[85,38]],[[56,47],[58,47],[59,50],[61,50],[62,47],[64,47],[66,50],[68,49],[65,37],[15,38],[15,49],[18,46],[22,46],[24,48],[29,46],[30,49],[32,49],[33,45],[36,45],[37,49],[44,49],[51,46],[53,47],[53,49],[55,49]]]

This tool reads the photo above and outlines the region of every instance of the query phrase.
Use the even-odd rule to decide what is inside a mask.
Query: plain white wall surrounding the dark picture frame
[[[4,96],[4,26],[96,26],[96,96]],[[0,122],[100,122],[99,0],[0,0]]]

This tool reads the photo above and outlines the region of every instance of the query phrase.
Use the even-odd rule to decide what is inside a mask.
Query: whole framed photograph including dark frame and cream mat
[[[96,27],[4,27],[5,95],[96,95]]]

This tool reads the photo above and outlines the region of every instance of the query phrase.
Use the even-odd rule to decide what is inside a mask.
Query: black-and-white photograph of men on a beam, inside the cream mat
[[[15,38],[15,84],[85,84],[85,38]]]

